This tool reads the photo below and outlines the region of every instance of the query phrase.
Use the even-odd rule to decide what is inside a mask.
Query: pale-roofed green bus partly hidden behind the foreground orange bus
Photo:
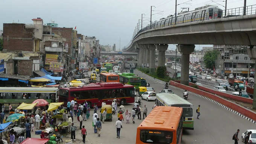
[[[157,106],[175,106],[183,108],[183,129],[194,130],[193,105],[176,94],[159,93]]]

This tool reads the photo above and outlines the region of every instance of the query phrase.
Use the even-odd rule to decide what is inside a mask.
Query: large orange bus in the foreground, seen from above
[[[137,127],[136,144],[180,144],[183,109],[157,106]]]

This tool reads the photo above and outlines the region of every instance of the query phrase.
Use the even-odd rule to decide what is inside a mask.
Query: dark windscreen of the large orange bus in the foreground
[[[170,144],[172,132],[163,130],[140,130],[140,141],[146,144]]]

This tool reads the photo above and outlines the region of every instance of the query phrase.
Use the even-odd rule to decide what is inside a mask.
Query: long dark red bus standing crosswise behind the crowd
[[[105,101],[107,105],[112,104],[112,100],[116,99],[118,103],[134,103],[134,86],[124,85],[119,82],[97,82],[84,85],[82,87],[69,87],[59,89],[59,102],[67,102],[76,100],[78,103],[84,103],[86,100],[91,107],[96,103],[101,106]]]

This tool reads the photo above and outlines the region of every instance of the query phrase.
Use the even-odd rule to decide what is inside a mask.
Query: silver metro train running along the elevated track
[[[189,23],[193,21],[209,20],[222,17],[222,9],[218,6],[206,5],[195,8],[194,11],[184,11],[177,14],[176,24]],[[175,15],[169,15],[167,18],[160,18],[151,24],[151,29],[158,27],[171,26],[175,24]],[[149,30],[150,24],[144,27],[142,31]]]

